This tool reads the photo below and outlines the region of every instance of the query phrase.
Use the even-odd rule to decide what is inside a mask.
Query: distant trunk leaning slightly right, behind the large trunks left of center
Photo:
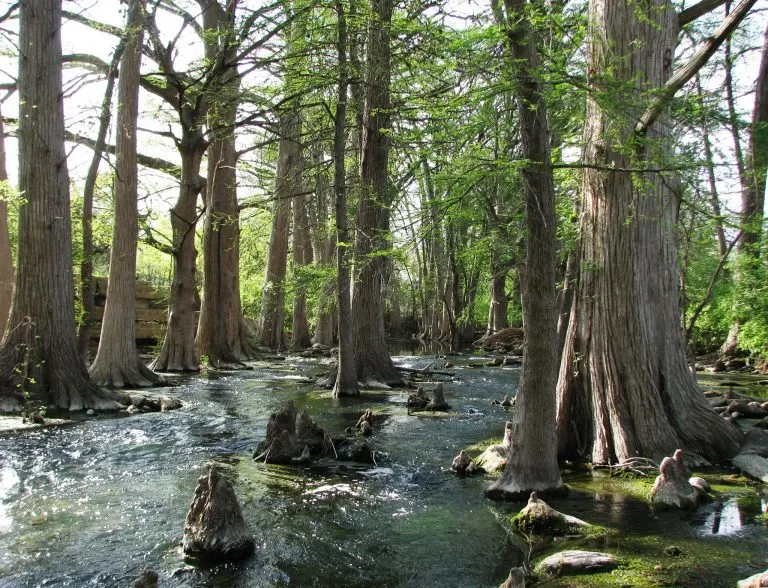
[[[262,345],[273,349],[284,345],[288,229],[291,221],[291,203],[300,186],[298,170],[301,159],[301,122],[298,108],[298,100],[291,100],[289,107],[280,115],[272,230],[269,235],[267,270],[259,318],[259,340]]]

